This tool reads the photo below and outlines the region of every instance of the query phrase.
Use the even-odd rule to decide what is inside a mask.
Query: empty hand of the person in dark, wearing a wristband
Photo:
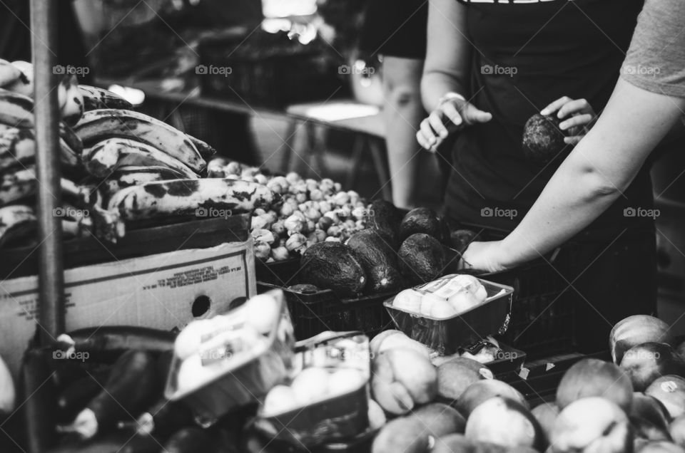
[[[449,120],[447,126],[443,123],[445,118]],[[435,151],[450,132],[476,123],[487,123],[489,120],[492,120],[491,113],[479,110],[461,97],[448,97],[441,100],[428,118],[421,122],[419,132],[416,132],[416,140],[426,150]]]

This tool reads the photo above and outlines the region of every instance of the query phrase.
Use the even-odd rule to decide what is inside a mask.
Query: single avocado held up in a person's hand
[[[566,147],[564,132],[559,129],[562,120],[557,115],[536,113],[523,127],[523,154],[532,162],[546,163],[561,154]]]

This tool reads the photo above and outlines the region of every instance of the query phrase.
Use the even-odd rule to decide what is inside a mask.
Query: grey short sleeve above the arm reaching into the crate
[[[685,98],[685,1],[644,2],[621,77],[652,93]]]

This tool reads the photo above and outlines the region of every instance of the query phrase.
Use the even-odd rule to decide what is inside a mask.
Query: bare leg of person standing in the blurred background
[[[422,60],[391,56],[383,59],[383,114],[392,202],[405,209],[415,207],[417,195],[420,146],[415,135],[425,117],[420,94],[422,70]]]

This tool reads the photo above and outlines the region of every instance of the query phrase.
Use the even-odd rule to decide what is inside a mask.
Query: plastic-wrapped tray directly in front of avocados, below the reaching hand
[[[450,296],[461,291],[470,291],[470,288],[455,288],[450,283],[456,276],[452,274],[438,278],[413,288],[413,291],[421,297],[429,295],[440,298],[441,295]],[[470,299],[472,305],[464,311],[450,311],[452,314],[449,316],[422,314],[418,309],[407,308],[407,304],[402,305],[405,308],[398,308],[395,306],[396,298],[388,299],[384,306],[398,330],[402,330],[410,338],[427,345],[441,355],[454,354],[460,347],[476,343],[487,335],[504,333],[509,326],[514,288],[480,278],[477,278],[477,281],[485,290],[484,300]]]

